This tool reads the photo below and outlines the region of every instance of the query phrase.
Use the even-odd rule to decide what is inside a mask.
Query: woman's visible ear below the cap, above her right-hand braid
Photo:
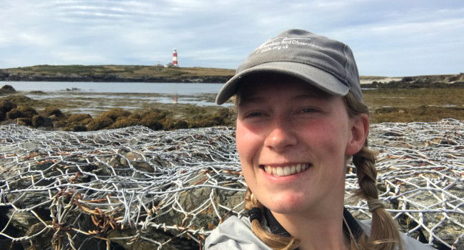
[[[353,156],[358,153],[364,146],[364,142],[369,133],[369,117],[367,114],[358,114],[351,118],[350,134],[348,135],[348,144],[346,145],[346,155]]]

